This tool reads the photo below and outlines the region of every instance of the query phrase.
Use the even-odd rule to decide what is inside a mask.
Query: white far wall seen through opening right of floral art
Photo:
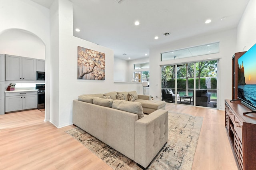
[[[128,61],[114,57],[114,81],[116,82],[127,82],[132,79],[128,79]]]

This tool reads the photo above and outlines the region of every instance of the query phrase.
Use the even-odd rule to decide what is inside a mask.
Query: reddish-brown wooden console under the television
[[[256,113],[241,101],[225,100],[225,127],[240,170],[256,169]]]

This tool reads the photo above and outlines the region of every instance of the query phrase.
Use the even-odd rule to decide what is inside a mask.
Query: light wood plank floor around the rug
[[[204,117],[192,170],[237,170],[224,127],[224,111],[167,103],[166,110]],[[0,115],[2,170],[111,170],[65,131],[44,122],[44,112]]]

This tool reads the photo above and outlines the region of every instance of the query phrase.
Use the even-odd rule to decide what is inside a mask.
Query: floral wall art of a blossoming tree
[[[77,47],[77,79],[105,80],[105,53]]]

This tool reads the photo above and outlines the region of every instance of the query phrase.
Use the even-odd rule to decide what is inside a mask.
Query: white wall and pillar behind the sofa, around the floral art
[[[73,9],[70,1],[55,0],[50,11],[51,23],[54,24],[51,25],[50,121],[56,127],[72,124],[72,100],[78,99],[78,95],[132,90],[142,94],[141,84],[114,83],[112,49],[73,36]],[[77,46],[105,53],[105,80],[77,79]]]

